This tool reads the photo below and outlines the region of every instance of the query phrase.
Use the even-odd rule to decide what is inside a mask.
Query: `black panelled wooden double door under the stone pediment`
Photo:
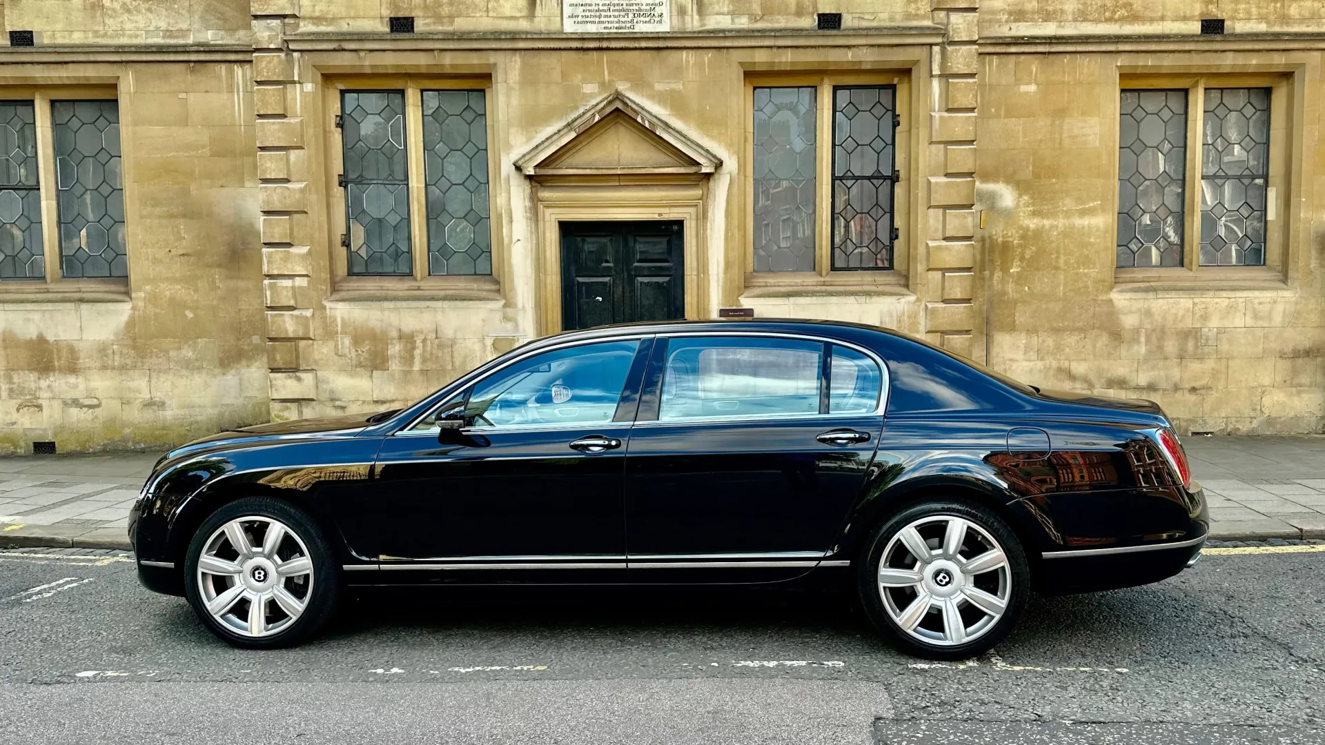
[[[563,329],[685,317],[680,220],[560,225]]]

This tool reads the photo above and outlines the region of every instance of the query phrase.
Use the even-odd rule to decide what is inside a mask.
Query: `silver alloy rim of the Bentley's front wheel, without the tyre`
[[[207,612],[229,631],[270,636],[289,628],[307,607],[313,558],[284,522],[238,517],[203,544],[196,582]]]

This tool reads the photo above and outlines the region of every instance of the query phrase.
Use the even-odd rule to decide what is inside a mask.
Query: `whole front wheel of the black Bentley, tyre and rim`
[[[326,537],[290,504],[236,500],[189,541],[184,591],[212,634],[250,650],[289,647],[335,610],[339,567]]]

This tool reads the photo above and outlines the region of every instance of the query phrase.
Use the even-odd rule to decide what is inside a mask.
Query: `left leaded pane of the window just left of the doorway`
[[[412,274],[405,94],[347,90],[341,98],[351,274]]]

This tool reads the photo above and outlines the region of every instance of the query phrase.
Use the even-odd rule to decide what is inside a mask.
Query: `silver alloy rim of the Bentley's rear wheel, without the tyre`
[[[933,514],[898,530],[878,561],[884,610],[925,644],[954,647],[998,624],[1012,573],[994,537],[963,517]]]

